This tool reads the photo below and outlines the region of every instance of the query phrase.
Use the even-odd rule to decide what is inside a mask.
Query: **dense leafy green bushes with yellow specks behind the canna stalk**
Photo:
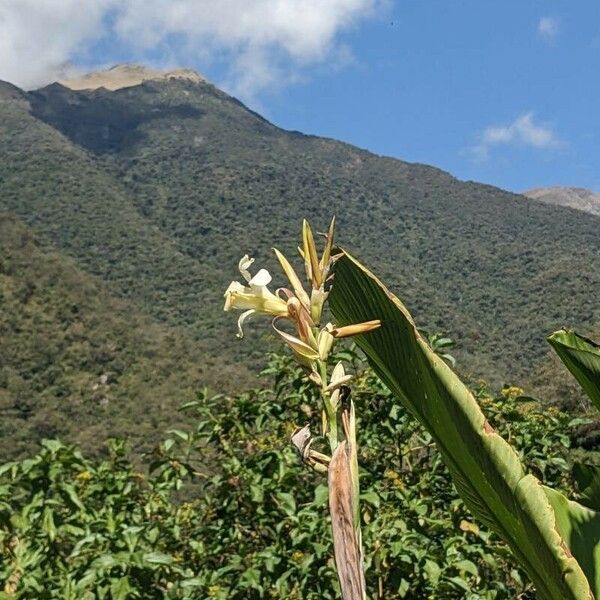
[[[0,467],[1,597],[334,598],[327,487],[288,442],[297,424],[319,421],[313,391],[287,358],[273,356],[265,376],[270,389],[189,403],[189,424],[146,457],[149,474],[117,442],[100,461],[47,441]],[[368,370],[353,390],[373,597],[533,598],[458,499],[427,433]],[[569,432],[580,420],[516,388],[475,392],[528,468],[572,493]]]

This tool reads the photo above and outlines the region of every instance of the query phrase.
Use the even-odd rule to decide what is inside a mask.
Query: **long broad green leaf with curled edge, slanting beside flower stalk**
[[[429,430],[459,494],[479,519],[506,540],[533,580],[538,597],[593,598],[588,578],[573,556],[576,548],[569,547],[570,540],[557,529],[559,522],[568,529],[564,524],[571,522],[570,512],[565,508],[556,514],[553,505],[561,503],[551,504],[540,482],[525,474],[515,451],[419,335],[403,304],[347,253],[335,265],[330,306],[339,325],[381,320],[379,329],[357,336],[358,346],[398,400]],[[571,504],[575,503],[566,506]],[[593,555],[595,548],[592,543],[582,552]],[[586,564],[596,586],[597,563]]]

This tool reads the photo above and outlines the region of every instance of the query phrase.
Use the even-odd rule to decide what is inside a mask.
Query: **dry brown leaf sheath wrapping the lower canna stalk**
[[[344,440],[335,449],[329,464],[329,512],[333,548],[343,599],[364,600],[366,586],[352,507],[350,451]]]

